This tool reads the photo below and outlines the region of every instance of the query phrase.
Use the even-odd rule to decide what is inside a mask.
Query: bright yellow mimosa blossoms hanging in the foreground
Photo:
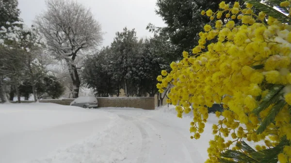
[[[281,2],[281,6],[291,7],[289,1]],[[256,15],[249,3],[242,9],[238,2],[230,8],[223,1],[219,8],[215,13],[202,11],[210,20],[218,19],[215,27],[206,25],[192,54],[183,52],[182,60],[170,64],[172,71],[162,71],[157,78],[160,92],[169,84],[174,86],[168,103],[177,105],[179,118],[183,113],[193,113],[191,138],[199,139],[204,132],[208,107],[223,104],[224,111],[216,112],[221,120],[212,127],[214,139],[209,142],[207,163],[217,163],[226,149],[240,150],[235,144],[243,139],[264,141],[265,146],[257,145],[256,150],[275,147],[283,136],[291,141],[291,26],[263,12]],[[223,15],[225,19],[221,20]],[[236,25],[237,20],[242,25]],[[206,45],[210,40],[212,43]],[[276,90],[283,107],[258,133],[262,119],[275,103],[258,114],[254,109]],[[285,146],[278,159],[290,163],[291,147]]]

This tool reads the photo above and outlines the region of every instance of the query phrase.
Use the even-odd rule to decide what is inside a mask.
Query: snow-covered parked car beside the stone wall
[[[98,101],[94,96],[78,97],[70,104],[72,106],[80,106],[83,108],[97,108]]]

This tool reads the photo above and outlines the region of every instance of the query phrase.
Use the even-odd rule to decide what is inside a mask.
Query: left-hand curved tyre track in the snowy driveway
[[[148,133],[146,132],[146,129],[140,123],[138,123],[138,120],[135,120],[132,117],[125,116],[122,114],[118,114],[118,116],[122,119],[125,119],[125,120],[134,121],[133,124],[139,129],[139,131],[142,135],[142,148],[140,151],[140,155],[137,159],[137,163],[147,163],[148,154],[149,154],[149,150],[150,150],[150,145],[149,145],[150,138],[149,138]]]

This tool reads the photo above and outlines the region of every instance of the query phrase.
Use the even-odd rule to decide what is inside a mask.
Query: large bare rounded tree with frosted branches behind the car
[[[81,85],[76,57],[102,42],[101,25],[90,9],[73,0],[47,0],[48,10],[36,17],[35,24],[45,35],[49,51],[56,59],[65,60],[73,81],[73,98]]]

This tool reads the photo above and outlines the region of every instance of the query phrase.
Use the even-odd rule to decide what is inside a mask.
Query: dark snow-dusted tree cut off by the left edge
[[[0,0],[0,99],[8,102],[6,87],[12,80],[19,81],[23,67],[23,30],[17,0]],[[17,80],[16,80],[17,79]]]

